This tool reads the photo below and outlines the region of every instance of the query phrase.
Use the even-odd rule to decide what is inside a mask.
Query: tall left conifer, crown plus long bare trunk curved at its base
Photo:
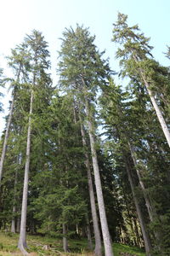
[[[25,177],[24,177],[24,188],[22,198],[22,209],[21,209],[21,223],[20,223],[20,239],[18,247],[22,253],[26,253],[26,210],[27,210],[27,194],[28,194],[28,181],[29,181],[29,168],[31,159],[31,124],[32,124],[32,113],[33,113],[33,102],[36,97],[36,91],[38,85],[45,89],[49,86],[49,76],[47,70],[49,68],[49,52],[48,44],[42,37],[41,32],[33,31],[30,36],[25,39],[27,50],[29,52],[30,61],[30,109],[28,117],[28,128],[27,128],[27,143],[26,143],[26,166],[25,166]]]

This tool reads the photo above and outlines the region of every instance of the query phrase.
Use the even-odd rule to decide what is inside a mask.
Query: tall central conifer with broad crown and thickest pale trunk
[[[108,63],[102,60],[102,54],[94,45],[94,37],[89,35],[87,29],[77,26],[75,31],[72,28],[66,29],[63,35],[64,38],[59,52],[60,84],[66,87],[67,90],[71,89],[78,101],[81,102],[82,108],[85,109],[105,255],[111,256],[113,252],[99,176],[94,139],[94,111],[92,111],[99,84],[105,84],[110,69]]]

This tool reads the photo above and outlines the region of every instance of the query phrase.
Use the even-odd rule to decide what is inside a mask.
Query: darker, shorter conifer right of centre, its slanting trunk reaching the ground
[[[116,85],[113,83],[112,80],[110,82],[110,86],[104,88],[103,96],[101,97],[100,102],[103,102],[102,113],[103,113],[103,117],[105,117],[105,124],[107,126],[111,125],[112,130],[116,131],[117,143],[119,142],[121,145],[120,150],[122,152],[122,159],[124,161],[125,168],[127,171],[128,181],[132,189],[133,201],[136,207],[136,211],[139,218],[139,224],[144,237],[146,254],[150,255],[150,251],[151,251],[150,236],[148,234],[146,225],[144,223],[144,214],[140,207],[139,198],[135,193],[136,184],[133,177],[133,167],[132,167],[132,163],[129,160],[129,153],[132,154],[133,152],[132,152],[131,145],[129,143],[132,141],[132,139],[130,139],[131,137],[128,136],[128,133],[129,131],[133,132],[132,130],[133,128],[129,126],[127,114],[126,114],[127,111],[124,109],[122,110],[123,103],[122,103],[121,89],[119,87],[116,87]],[[125,104],[129,104],[129,103],[125,103]],[[133,154],[131,158],[133,160]]]

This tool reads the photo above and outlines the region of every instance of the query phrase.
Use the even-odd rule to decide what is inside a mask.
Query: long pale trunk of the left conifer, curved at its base
[[[31,148],[32,103],[33,103],[33,90],[31,90],[30,116],[28,120],[27,143],[26,143],[26,166],[25,166],[24,189],[23,189],[21,220],[20,220],[20,239],[18,243],[18,247],[20,248],[20,251],[24,253],[24,255],[28,255],[25,248],[26,248],[26,211],[27,211],[28,178],[29,178],[30,148]]]

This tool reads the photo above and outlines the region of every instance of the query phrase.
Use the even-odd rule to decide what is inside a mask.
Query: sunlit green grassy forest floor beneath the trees
[[[0,256],[22,255],[17,249],[18,239],[17,234],[0,232]],[[27,236],[27,245],[31,256],[94,256],[94,253],[87,250],[87,241],[85,240],[69,240],[71,253],[63,253],[60,239],[46,236]],[[113,249],[114,256],[145,256],[144,251],[137,247],[114,243]]]

